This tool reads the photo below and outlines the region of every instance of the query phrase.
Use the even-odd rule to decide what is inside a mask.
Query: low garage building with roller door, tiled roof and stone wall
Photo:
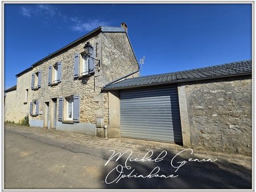
[[[251,69],[246,60],[108,84],[110,127],[115,136],[251,155]]]

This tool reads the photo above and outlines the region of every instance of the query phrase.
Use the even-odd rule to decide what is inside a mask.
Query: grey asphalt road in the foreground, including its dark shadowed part
[[[190,153],[184,151],[175,157],[173,152],[159,150],[154,151],[151,161],[145,157],[144,162],[137,162],[133,161],[137,157],[133,154],[129,157],[128,151],[118,161],[114,157],[108,162],[112,152],[105,149],[5,129],[4,186],[5,189],[251,189],[251,169],[245,166],[248,162],[241,165],[225,159],[188,162],[188,158],[196,158]],[[187,162],[182,165],[184,161]]]

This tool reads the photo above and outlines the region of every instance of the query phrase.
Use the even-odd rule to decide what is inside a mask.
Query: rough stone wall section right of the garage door
[[[251,155],[251,76],[185,86],[191,145]]]

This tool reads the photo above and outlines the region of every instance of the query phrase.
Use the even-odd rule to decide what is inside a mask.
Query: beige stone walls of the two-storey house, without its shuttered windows
[[[86,42],[93,45],[96,52],[94,57],[101,61],[101,65],[100,67],[96,66],[94,73],[90,75],[74,78],[74,58],[76,53],[81,53],[84,50]],[[61,81],[49,86],[49,66],[53,67],[57,62],[61,62]],[[30,115],[31,126],[56,127],[58,130],[97,135],[97,128],[109,126],[108,93],[101,93],[101,88],[113,80],[138,70],[139,66],[125,31],[93,32],[34,64],[28,76],[26,74],[25,77],[22,74],[21,77],[26,78],[30,87],[31,74],[41,72],[41,85],[39,89],[31,90],[31,87],[29,88],[28,108],[23,110],[28,113],[30,102],[39,101],[39,114]],[[134,73],[132,76],[138,75],[139,73]],[[20,81],[17,82],[17,87],[19,86]],[[79,123],[66,122],[64,119],[63,122],[57,121],[55,126],[52,126],[54,123],[50,121],[55,118],[53,114],[59,116],[59,98],[72,95],[80,96]],[[56,111],[49,112],[53,110]],[[65,112],[65,106],[63,112]],[[98,122],[101,121],[102,123],[99,124]]]

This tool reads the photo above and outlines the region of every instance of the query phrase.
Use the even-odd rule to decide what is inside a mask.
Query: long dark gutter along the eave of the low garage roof
[[[251,75],[251,72],[229,74],[229,75],[224,75],[224,76],[200,77],[200,78],[192,78],[192,79],[188,78],[188,79],[182,79],[182,80],[160,82],[160,83],[155,83],[155,84],[135,85],[135,86],[127,86],[127,87],[114,87],[114,88],[110,88],[110,89],[103,88],[102,90],[105,91],[105,90],[134,89],[134,88],[146,87],[146,86],[166,85],[166,84],[175,84],[175,83],[181,83],[181,82],[193,82],[193,81],[201,81],[201,80],[212,80],[212,79],[216,79],[216,78],[236,77],[236,76],[246,76],[246,75]],[[107,85],[105,85],[105,86],[107,86]]]

